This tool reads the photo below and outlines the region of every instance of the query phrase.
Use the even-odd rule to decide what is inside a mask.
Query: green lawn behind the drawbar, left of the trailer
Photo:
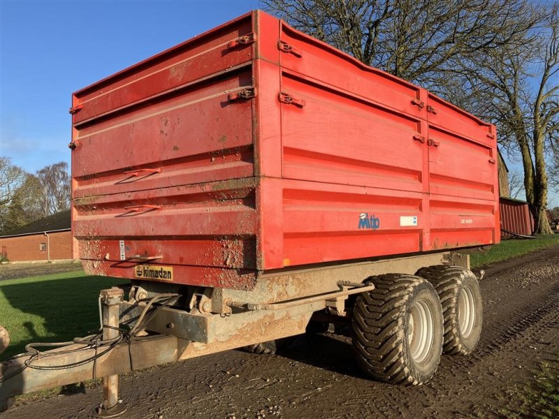
[[[83,271],[0,281],[0,325],[11,338],[0,360],[29,342],[68,341],[98,329],[99,291],[124,282]]]

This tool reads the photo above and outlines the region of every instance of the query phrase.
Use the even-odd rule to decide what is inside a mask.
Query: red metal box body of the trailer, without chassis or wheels
[[[77,91],[71,112],[88,272],[250,289],[500,240],[495,126],[261,11]]]

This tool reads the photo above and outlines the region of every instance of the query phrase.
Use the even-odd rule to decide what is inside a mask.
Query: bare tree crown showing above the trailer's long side
[[[469,57],[523,45],[539,20],[528,0],[262,0],[296,29],[393,75],[439,87]]]

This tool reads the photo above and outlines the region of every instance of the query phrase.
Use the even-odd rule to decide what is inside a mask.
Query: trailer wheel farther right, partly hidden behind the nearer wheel
[[[479,342],[484,321],[479,282],[474,273],[460,266],[435,265],[422,267],[416,275],[430,281],[441,300],[444,316],[444,353],[467,355]],[[469,300],[465,303],[464,299]],[[459,301],[460,299],[460,301]],[[460,307],[473,306],[460,312]],[[469,318],[469,321],[465,320]]]

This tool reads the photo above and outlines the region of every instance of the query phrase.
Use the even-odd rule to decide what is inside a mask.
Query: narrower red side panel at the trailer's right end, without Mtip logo
[[[495,128],[428,96],[432,249],[500,241]]]

